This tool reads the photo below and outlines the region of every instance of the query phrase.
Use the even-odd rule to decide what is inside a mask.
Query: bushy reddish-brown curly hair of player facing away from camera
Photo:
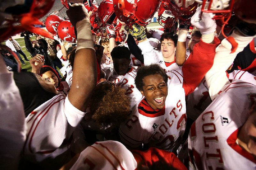
[[[115,87],[114,83],[98,84],[91,98],[92,120],[101,129],[113,129],[127,120],[131,110],[131,101],[125,95],[126,90]]]

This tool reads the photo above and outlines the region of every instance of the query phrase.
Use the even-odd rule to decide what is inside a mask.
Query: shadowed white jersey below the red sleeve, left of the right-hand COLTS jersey
[[[187,97],[187,115],[190,119],[196,120],[212,102],[209,91],[204,83],[205,79]]]

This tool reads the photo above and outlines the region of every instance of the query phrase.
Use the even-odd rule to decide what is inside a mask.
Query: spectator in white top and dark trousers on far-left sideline
[[[7,47],[9,47],[13,52],[16,53],[16,55],[18,56],[18,58],[20,59],[21,63],[23,65],[25,65],[25,62],[23,61],[23,59],[20,57],[20,54],[23,55],[24,59],[26,61],[29,61],[28,58],[26,57],[26,55],[23,53],[23,51],[21,50],[20,44],[16,41],[13,40],[12,37],[9,37],[8,40],[5,42],[5,45]],[[19,54],[20,53],[20,54]]]

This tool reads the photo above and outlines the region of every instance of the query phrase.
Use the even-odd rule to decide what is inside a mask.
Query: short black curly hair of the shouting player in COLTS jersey
[[[168,76],[166,73],[164,73],[164,69],[162,67],[160,67],[158,64],[151,64],[148,66],[141,66],[138,69],[137,75],[134,80],[136,88],[139,91],[143,91],[144,77],[153,75],[153,74],[160,74],[163,77],[165,84],[167,85]]]

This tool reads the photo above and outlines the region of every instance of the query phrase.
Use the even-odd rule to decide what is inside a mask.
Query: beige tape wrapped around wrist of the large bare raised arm
[[[83,19],[76,23],[77,31],[77,46],[76,51],[82,48],[94,49],[94,43],[92,40],[91,23],[89,19]]]

